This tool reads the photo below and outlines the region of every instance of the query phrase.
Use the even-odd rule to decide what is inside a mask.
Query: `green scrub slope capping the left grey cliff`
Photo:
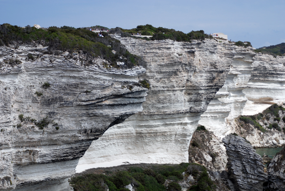
[[[54,50],[61,51],[82,51],[88,55],[88,64],[92,64],[92,59],[101,57],[109,62],[114,68],[132,68],[139,65],[143,60],[121,45],[120,41],[111,38],[108,33],[103,32],[102,37],[86,28],[74,28],[69,26],[51,26],[47,29],[35,27],[13,26],[11,24],[0,25],[0,46],[17,46],[21,44],[40,43],[48,46],[52,54]],[[112,51],[114,50],[114,51]],[[124,62],[125,65],[117,65],[117,62]]]

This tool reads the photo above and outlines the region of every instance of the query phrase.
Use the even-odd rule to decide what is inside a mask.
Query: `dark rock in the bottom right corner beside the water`
[[[285,148],[276,154],[267,168],[268,185],[265,191],[285,191]]]

